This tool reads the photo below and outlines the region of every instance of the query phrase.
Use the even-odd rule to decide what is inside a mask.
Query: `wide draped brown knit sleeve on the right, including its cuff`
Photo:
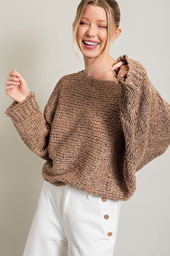
[[[128,74],[120,78],[120,119],[125,138],[124,167],[134,173],[162,155],[170,144],[170,105],[152,85],[140,62],[121,55]],[[117,77],[117,73],[114,76]]]

